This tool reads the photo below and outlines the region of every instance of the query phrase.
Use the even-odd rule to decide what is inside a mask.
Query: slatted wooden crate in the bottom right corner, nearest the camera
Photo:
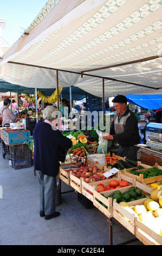
[[[151,223],[144,223],[135,218],[135,236],[144,245],[162,245],[162,236],[159,234],[162,230],[162,217],[158,218],[154,218]]]

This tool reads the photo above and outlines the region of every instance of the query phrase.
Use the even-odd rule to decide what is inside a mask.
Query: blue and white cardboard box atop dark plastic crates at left
[[[28,130],[10,130],[4,132],[4,142],[8,145],[16,145],[30,141],[30,131]]]

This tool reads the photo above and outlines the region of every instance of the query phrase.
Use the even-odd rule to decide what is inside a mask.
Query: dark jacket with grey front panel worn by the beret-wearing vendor
[[[121,145],[121,147],[131,147],[140,143],[138,119],[136,115],[129,109],[121,115],[115,113],[110,134],[113,139]]]

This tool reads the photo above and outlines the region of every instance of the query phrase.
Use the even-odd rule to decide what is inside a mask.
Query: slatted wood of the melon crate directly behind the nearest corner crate
[[[127,188],[128,190],[128,188]],[[146,196],[146,198],[149,198]],[[146,198],[142,198],[139,200],[135,200],[132,202],[128,202],[127,204],[129,206],[131,205],[142,205]],[[124,215],[126,218],[128,218],[129,221],[127,221],[124,217],[121,216]],[[131,212],[127,211],[126,208],[123,208],[120,204],[116,203],[116,200],[113,200],[113,218],[115,218],[116,221],[118,221],[121,225],[123,225],[126,229],[129,230],[133,235],[135,235],[135,217],[137,217],[136,214],[132,214]]]

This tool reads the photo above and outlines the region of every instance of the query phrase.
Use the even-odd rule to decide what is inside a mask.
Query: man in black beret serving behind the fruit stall
[[[109,132],[103,135],[107,140],[117,141],[119,144],[117,155],[126,156],[137,161],[137,151],[140,143],[138,119],[136,115],[127,108],[127,97],[118,95],[112,100],[116,113]]]

